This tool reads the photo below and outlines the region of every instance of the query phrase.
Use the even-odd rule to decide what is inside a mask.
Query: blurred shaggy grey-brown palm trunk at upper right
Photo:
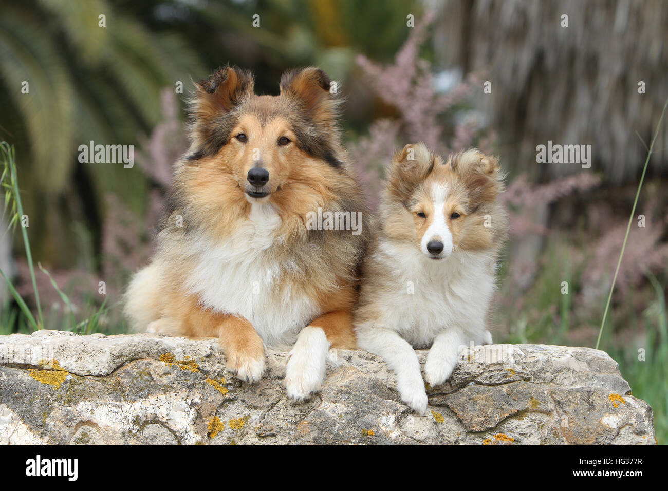
[[[647,154],[639,136],[649,145],[668,96],[667,29],[662,0],[449,0],[434,47],[442,65],[491,81],[492,94],[481,87],[476,101],[506,166],[542,181],[582,172],[536,163],[536,146],[591,144],[591,170],[620,184],[639,178]],[[656,142],[666,146],[668,125]],[[668,152],[657,152],[649,175],[665,174],[666,164]]]

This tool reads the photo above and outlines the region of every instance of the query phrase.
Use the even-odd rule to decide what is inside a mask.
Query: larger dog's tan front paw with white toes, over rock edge
[[[255,327],[233,315],[220,325],[220,345],[227,357],[227,367],[246,382],[257,382],[265,373],[265,345]]]

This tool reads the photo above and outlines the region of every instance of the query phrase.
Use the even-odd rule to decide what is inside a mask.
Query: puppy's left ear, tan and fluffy
[[[427,146],[420,142],[408,144],[395,152],[389,169],[389,190],[405,200],[440,162]]]

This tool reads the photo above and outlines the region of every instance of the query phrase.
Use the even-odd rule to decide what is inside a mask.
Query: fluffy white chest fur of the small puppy
[[[381,244],[376,254],[391,267],[395,280],[381,294],[381,303],[387,305],[383,327],[399,332],[415,348],[430,347],[446,328],[482,341],[495,285],[492,258],[456,251],[434,260],[392,244]]]

